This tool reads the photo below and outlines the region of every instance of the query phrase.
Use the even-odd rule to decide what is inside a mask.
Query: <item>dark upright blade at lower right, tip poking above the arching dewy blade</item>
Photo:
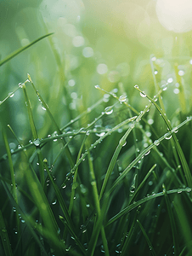
[[[174,220],[174,216],[172,213],[172,207],[171,207],[171,203],[168,199],[167,196],[167,189],[165,184],[162,184],[162,189],[163,189],[163,194],[166,200],[166,204],[167,204],[167,211],[168,211],[168,215],[169,215],[169,219],[170,219],[170,224],[171,224],[171,228],[172,228],[172,239],[173,239],[173,247],[174,247],[174,253],[175,255],[178,255],[178,252],[180,251],[179,249],[179,243],[178,243],[178,232],[176,230],[176,224],[175,224],[175,220]]]

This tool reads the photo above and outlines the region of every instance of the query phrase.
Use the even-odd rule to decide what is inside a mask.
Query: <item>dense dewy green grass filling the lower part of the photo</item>
[[[0,66],[42,38],[8,55]],[[62,84],[67,74],[51,37],[49,44]],[[154,58],[148,61],[154,83],[149,93],[138,85],[133,96],[125,84],[110,91],[96,85],[88,107],[82,99],[75,112],[68,103],[61,111],[61,91],[69,101],[71,89],[65,84],[55,103],[28,74],[4,97],[2,255],[192,254],[191,102],[184,102],[184,81],[173,63],[180,107],[167,108],[171,90],[160,86],[155,70],[161,73],[161,67]],[[14,121],[3,119],[18,90],[27,118],[24,140],[25,129],[18,131]],[[37,104],[43,109],[41,128]]]

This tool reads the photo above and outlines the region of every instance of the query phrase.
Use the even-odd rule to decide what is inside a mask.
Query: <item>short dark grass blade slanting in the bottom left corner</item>
[[[1,210],[0,210],[0,230],[1,230],[0,236],[2,239],[4,253],[6,256],[13,256],[11,244],[8,238],[8,231],[7,231]]]

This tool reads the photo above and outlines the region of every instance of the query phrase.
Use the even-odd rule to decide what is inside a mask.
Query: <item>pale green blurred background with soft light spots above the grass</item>
[[[129,103],[140,111],[148,101],[133,86],[138,84],[150,96],[155,95],[150,67],[150,55],[154,54],[160,88],[172,78],[163,94],[170,115],[181,108],[175,90],[175,61],[184,71],[182,79],[189,113],[192,34],[176,34],[161,26],[155,3],[152,0],[1,1],[2,60],[48,32],[54,35],[0,67],[0,100],[30,73],[60,127],[103,96],[94,88],[95,84],[108,91],[118,88],[118,96],[125,92]],[[26,85],[39,137],[45,137],[54,127],[31,85]],[[31,132],[22,90],[1,107],[3,124],[11,125],[21,140],[29,139]]]

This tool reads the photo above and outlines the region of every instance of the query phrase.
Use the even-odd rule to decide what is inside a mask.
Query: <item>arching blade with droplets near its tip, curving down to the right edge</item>
[[[142,92],[141,90],[139,90],[138,86],[137,86],[137,87],[135,86],[135,88],[136,88],[139,92]],[[161,110],[161,108],[159,107],[159,105],[158,105],[150,96],[148,96],[148,95],[146,95],[146,96],[147,96],[147,98],[150,100],[150,102],[152,102],[152,103],[154,104],[154,106],[155,106],[155,108],[158,110],[158,112],[161,113],[162,119],[164,119],[164,121],[165,121],[165,123],[166,123],[166,125],[167,125],[168,130],[169,130],[169,131],[172,131],[172,126],[171,126],[169,120],[167,119],[166,115],[162,112],[162,110]],[[189,118],[189,120],[190,120],[190,118]],[[166,137],[168,137],[168,133],[165,134],[165,138],[166,138]],[[174,144],[173,144],[173,145],[175,145],[175,148],[177,149],[177,152],[178,152],[178,154],[176,154],[176,151],[173,150],[173,154],[174,154],[174,156],[175,156],[175,159],[176,159],[176,161],[178,162],[178,157],[179,157],[179,159],[180,159],[180,161],[181,161],[181,163],[182,163],[182,166],[183,166],[183,168],[184,168],[184,174],[185,174],[185,176],[186,176],[187,183],[188,183],[189,187],[192,187],[192,176],[191,176],[191,173],[190,173],[190,171],[189,171],[189,166],[188,166],[188,164],[187,164],[187,161],[185,160],[184,152],[183,152],[183,150],[182,150],[180,144],[178,143],[178,138],[177,138],[175,132],[172,132],[172,138],[173,138],[173,141],[174,141]],[[185,181],[185,179],[184,179],[184,174],[183,174],[182,172],[180,172],[180,174],[181,174],[182,177],[183,177],[183,182],[184,182],[184,184],[186,184],[186,181]]]

